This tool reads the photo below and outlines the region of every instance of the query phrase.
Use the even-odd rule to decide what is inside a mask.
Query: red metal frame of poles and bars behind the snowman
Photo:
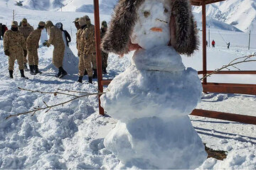
[[[195,6],[202,6],[202,24],[203,24],[203,71],[198,74],[210,74],[213,71],[207,70],[207,58],[206,58],[206,4],[215,3],[225,0],[191,0],[191,4]],[[99,91],[103,91],[103,86],[110,84],[112,79],[102,79],[102,59],[100,51],[100,16],[99,16],[99,3],[98,0],[94,0],[95,6],[95,39],[97,49],[97,75],[98,75],[98,88]],[[251,71],[220,71],[215,74],[256,74],[255,70]],[[228,93],[228,94],[251,94],[256,95],[256,84],[221,84],[221,83],[208,83],[207,78],[203,79],[203,91],[213,93]],[[99,96],[99,111],[101,115],[104,115],[104,110],[100,106]],[[203,116],[206,118],[216,118],[220,120],[230,120],[240,123],[249,123],[256,125],[256,117],[249,115],[238,115],[234,113],[223,113],[218,111],[205,111],[201,109],[195,109],[191,115]]]

